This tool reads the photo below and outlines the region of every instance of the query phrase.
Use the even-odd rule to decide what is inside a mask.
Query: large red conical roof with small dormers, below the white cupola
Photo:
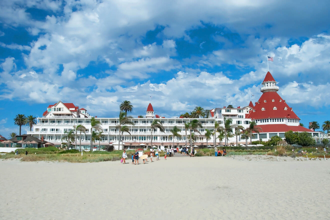
[[[274,99],[274,102],[272,100]],[[266,100],[266,102],[264,102]],[[281,102],[280,102],[281,100]],[[258,103],[259,102],[259,103]],[[256,102],[253,109],[250,111],[247,118],[251,119],[262,119],[262,118],[298,118],[298,116],[292,111],[284,100],[277,92],[265,92],[261,95],[258,102]],[[277,110],[273,110],[276,107]],[[284,108],[287,110],[284,110]],[[265,110],[261,110],[265,108]]]

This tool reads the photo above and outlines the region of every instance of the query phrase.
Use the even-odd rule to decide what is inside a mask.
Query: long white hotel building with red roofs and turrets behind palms
[[[244,128],[248,128],[249,123],[253,120],[262,129],[260,134],[255,134],[253,140],[262,139],[263,141],[269,140],[272,136],[278,135],[284,138],[284,132],[292,130],[294,132],[307,131],[312,136],[320,136],[320,132],[314,132],[302,126],[299,126],[298,116],[293,112],[292,108],[285,103],[285,100],[277,94],[279,87],[276,85],[276,81],[272,75],[268,72],[260,91],[263,93],[255,105],[250,102],[246,107],[237,107],[233,109],[228,108],[215,108],[210,110],[209,118],[196,118],[198,119],[203,128],[199,131],[201,134],[195,133],[195,145],[206,145],[205,129],[214,130],[214,123],[217,121],[220,126],[223,124],[224,117],[232,118],[233,124],[242,125]],[[59,101],[54,105],[49,105],[47,110],[43,113],[43,117],[38,117],[36,125],[33,125],[32,131],[27,131],[27,134],[33,135],[36,138],[44,139],[54,143],[55,145],[61,145],[62,138],[66,136],[65,131],[74,129],[74,126],[82,124],[86,127],[86,134],[82,134],[82,147],[90,148],[90,118],[92,116],[86,109],[80,109],[73,103],[62,103]],[[103,135],[101,139],[101,145],[108,146],[109,144],[118,141],[119,132],[116,130],[118,118],[105,118],[95,117],[96,120],[101,122]],[[151,142],[151,129],[150,124],[153,120],[158,119],[161,121],[165,128],[165,133],[160,132],[159,129],[153,132],[152,145],[155,146],[168,146],[173,145],[173,136],[170,130],[174,126],[177,126],[181,132],[180,138],[174,140],[175,145],[184,146],[189,142],[185,137],[184,123],[187,123],[195,118],[165,118],[157,114],[154,114],[152,105],[149,106],[146,111],[145,118],[132,118],[134,125],[129,126],[130,133],[124,133],[121,138],[126,147],[139,146],[141,143],[150,146]],[[189,131],[187,132],[189,134]],[[80,135],[78,134],[77,144],[80,142]],[[241,140],[238,136],[239,143],[245,143],[245,139]],[[216,144],[219,144],[219,140],[216,140]],[[222,140],[224,142],[224,140]],[[213,137],[208,140],[208,144],[213,146]],[[228,143],[236,144],[236,137],[229,138]],[[93,143],[94,147],[98,145],[98,141]]]

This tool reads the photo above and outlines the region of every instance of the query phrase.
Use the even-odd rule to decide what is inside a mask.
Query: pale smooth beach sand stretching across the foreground
[[[0,219],[329,219],[330,160],[280,159],[0,161]]]

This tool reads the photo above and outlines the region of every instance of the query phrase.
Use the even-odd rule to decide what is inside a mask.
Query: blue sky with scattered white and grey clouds
[[[59,100],[91,115],[247,106],[269,70],[308,125],[330,120],[327,1],[0,2],[0,134]],[[23,127],[22,131],[28,130]]]

